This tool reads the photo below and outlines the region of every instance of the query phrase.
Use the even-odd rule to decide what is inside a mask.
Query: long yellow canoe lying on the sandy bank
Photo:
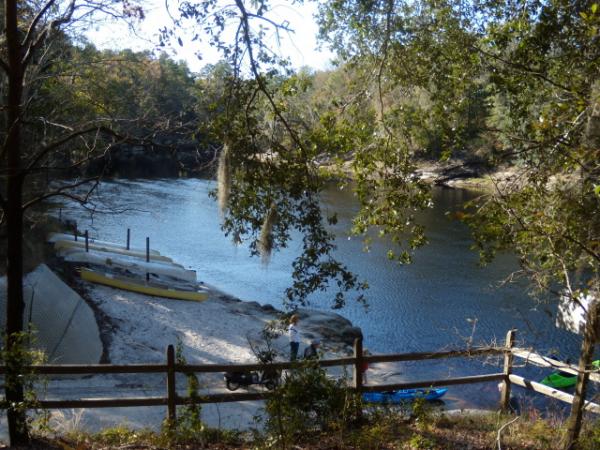
[[[206,290],[199,290],[197,285],[191,283],[174,283],[173,285],[170,285],[155,281],[146,281],[141,277],[129,278],[84,268],[81,269],[81,279],[96,284],[123,289],[125,291],[153,295],[156,297],[192,301],[202,301],[208,298],[208,292]]]

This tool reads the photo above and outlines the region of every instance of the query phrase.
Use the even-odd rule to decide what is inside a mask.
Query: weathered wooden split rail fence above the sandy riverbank
[[[563,402],[572,403],[573,396],[544,386],[532,380],[527,380],[521,376],[513,374],[514,358],[525,359],[528,363],[552,367],[561,371],[577,373],[577,368],[572,365],[555,361],[553,359],[538,355],[526,349],[514,347],[515,331],[510,330],[506,336],[504,347],[480,347],[465,350],[431,352],[431,353],[401,353],[387,355],[369,355],[363,356],[362,341],[357,339],[354,343],[354,355],[347,358],[320,360],[321,367],[334,366],[352,366],[353,379],[350,389],[355,392],[378,392],[391,391],[397,389],[410,389],[417,387],[433,388],[440,386],[453,386],[462,384],[484,383],[492,381],[502,382],[500,393],[500,407],[504,410],[509,408],[511,386],[517,385],[526,389],[538,392],[540,394],[552,397]],[[374,364],[383,362],[402,362],[402,361],[425,361],[444,358],[472,358],[477,356],[501,356],[504,355],[504,367],[502,372],[474,375],[454,378],[444,378],[441,380],[421,380],[405,383],[393,384],[368,384],[363,383],[363,372],[361,368],[364,363]],[[275,362],[268,364],[269,369],[284,370],[297,367],[298,363]],[[131,398],[97,398],[97,399],[79,399],[79,400],[39,400],[37,407],[45,409],[61,408],[108,408],[108,407],[133,407],[133,406],[166,406],[167,417],[174,421],[176,419],[176,407],[178,405],[187,405],[191,403],[225,403],[242,402],[252,400],[264,400],[272,395],[268,391],[260,392],[224,392],[201,395],[197,398],[183,397],[177,394],[175,378],[176,373],[215,373],[215,372],[244,372],[250,370],[263,370],[265,364],[176,364],[175,351],[172,345],[167,347],[166,364],[92,364],[92,365],[36,365],[30,366],[27,370],[40,375],[98,375],[98,374],[124,374],[140,373],[166,374],[166,396],[165,397],[131,397]],[[0,373],[5,373],[5,367],[0,366]],[[591,373],[590,380],[600,382],[600,374]],[[600,414],[600,405],[586,402],[586,410]],[[172,422],[173,423],[173,422]]]

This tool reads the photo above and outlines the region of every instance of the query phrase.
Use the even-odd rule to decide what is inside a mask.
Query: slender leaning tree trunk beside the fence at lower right
[[[577,384],[575,385],[575,395],[573,405],[571,406],[571,415],[569,416],[567,441],[565,444],[566,450],[574,450],[577,448],[579,433],[583,422],[583,407],[585,406],[585,395],[589,380],[589,370],[592,367],[594,358],[595,342],[598,338],[598,312],[600,303],[592,301],[588,310],[585,331],[583,333],[583,343],[581,345],[581,353],[579,355],[579,374],[577,375]]]

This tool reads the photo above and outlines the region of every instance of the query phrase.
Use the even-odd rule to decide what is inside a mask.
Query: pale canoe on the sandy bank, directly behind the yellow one
[[[183,281],[196,282],[196,271],[185,269],[180,264],[150,261],[134,257],[131,255],[109,254],[90,250],[86,252],[80,248],[62,249],[58,252],[59,256],[65,261],[76,263],[88,263],[102,266],[103,269],[121,269],[134,272],[136,274],[145,273],[157,274],[159,276],[169,276]]]

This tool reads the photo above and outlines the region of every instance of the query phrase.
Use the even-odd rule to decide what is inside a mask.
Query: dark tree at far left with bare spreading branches
[[[6,401],[12,445],[29,441],[23,385],[19,379],[23,359],[19,356],[23,331],[23,230],[24,213],[31,206],[54,195],[69,194],[92,180],[81,180],[49,189],[42,174],[64,169],[61,162],[79,166],[90,154],[106,145],[102,133],[110,129],[103,121],[80,122],[60,114],[59,97],[48,90],[61,73],[62,52],[68,51],[65,31],[74,23],[84,24],[97,13],[114,16],[141,16],[134,3],[120,0],[88,2],[23,2],[5,0],[0,46],[0,86],[3,94],[2,177],[0,206],[7,235],[7,311],[5,352]],[[55,121],[55,119],[57,119]],[[61,154],[57,158],[57,154]],[[66,157],[65,157],[66,155]],[[85,196],[84,196],[85,197]],[[85,198],[79,198],[85,200]],[[11,356],[12,355],[12,356]]]

